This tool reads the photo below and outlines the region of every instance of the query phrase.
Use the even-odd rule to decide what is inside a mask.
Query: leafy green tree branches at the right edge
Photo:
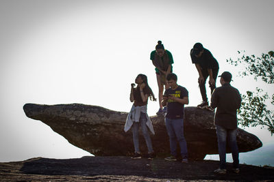
[[[245,65],[245,70],[238,74],[242,77],[253,76],[254,80],[261,78],[262,81],[272,85],[274,83],[274,52],[268,54],[262,53],[261,57],[255,55],[246,56],[245,51],[238,51],[241,56],[237,61],[231,58],[227,60],[231,65]],[[272,100],[271,100],[272,99]],[[246,127],[255,127],[261,125],[266,126],[271,135],[274,134],[274,111],[269,110],[266,102],[271,100],[274,106],[274,94],[272,98],[267,93],[263,93],[262,89],[256,88],[256,91],[247,91],[246,95],[242,95],[242,106],[238,113],[240,115],[239,123]]]

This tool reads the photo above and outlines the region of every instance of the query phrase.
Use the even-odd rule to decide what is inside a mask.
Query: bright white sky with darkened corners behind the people
[[[174,59],[188,106],[201,103],[190,49],[201,42],[232,72],[232,85],[245,93],[273,86],[236,77],[240,66],[226,63],[238,50],[260,56],[273,50],[273,1],[0,0],[0,162],[32,157],[90,155],[41,121],[23,105],[88,104],[129,112],[130,84],[140,73],[158,97],[150,52],[158,40]],[[219,79],[217,87],[221,86]],[[210,88],[208,96],[210,95]],[[269,106],[271,107],[271,106]],[[149,101],[155,115],[158,102]],[[274,146],[266,129],[247,128]]]

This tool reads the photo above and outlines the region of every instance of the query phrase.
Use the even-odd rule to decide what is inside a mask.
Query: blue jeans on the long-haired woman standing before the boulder
[[[134,149],[136,153],[140,153],[140,148],[139,148],[139,125],[142,127],[142,134],[145,138],[145,141],[147,143],[147,149],[149,153],[153,152],[152,149],[152,143],[151,143],[151,138],[149,135],[149,130],[147,127],[147,115],[145,113],[141,112],[140,115],[140,121],[139,122],[133,122],[132,125],[132,134],[133,134],[133,143],[134,143]]]

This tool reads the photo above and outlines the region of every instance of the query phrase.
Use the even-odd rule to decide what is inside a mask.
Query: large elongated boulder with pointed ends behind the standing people
[[[132,155],[134,152],[132,132],[123,131],[127,112],[84,104],[25,104],[23,109],[27,117],[42,121],[72,145],[94,155]],[[218,154],[213,119],[214,112],[195,107],[185,108],[184,133],[190,160],[203,160],[207,154]],[[155,130],[155,135],[151,135],[155,153],[159,157],[169,155],[164,116],[153,116],[151,121]],[[238,129],[237,140],[240,152],[262,147],[262,142],[256,136],[241,129]],[[142,135],[140,149],[147,152]],[[229,147],[227,153],[230,153]]]

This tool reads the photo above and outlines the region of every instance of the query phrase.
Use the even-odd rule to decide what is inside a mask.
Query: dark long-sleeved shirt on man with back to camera
[[[237,109],[240,108],[242,98],[238,89],[229,83],[214,90],[211,96],[212,108],[217,108],[214,116],[214,125],[220,125],[227,129],[234,130],[238,126]]]

